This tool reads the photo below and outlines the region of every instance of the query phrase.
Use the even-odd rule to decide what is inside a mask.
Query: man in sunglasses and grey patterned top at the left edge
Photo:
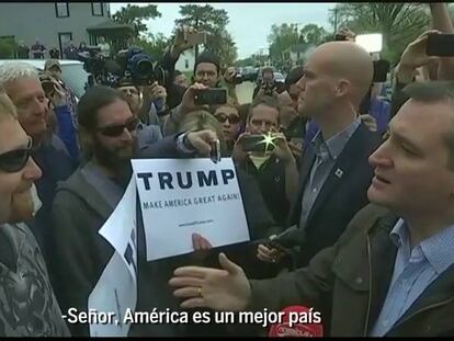
[[[36,239],[22,223],[34,214],[42,175],[32,139],[0,90],[0,337],[68,337]]]

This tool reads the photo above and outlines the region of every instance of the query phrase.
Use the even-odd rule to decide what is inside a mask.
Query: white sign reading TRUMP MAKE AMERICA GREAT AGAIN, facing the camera
[[[194,251],[192,234],[213,247],[249,240],[231,159],[133,160],[148,261]]]

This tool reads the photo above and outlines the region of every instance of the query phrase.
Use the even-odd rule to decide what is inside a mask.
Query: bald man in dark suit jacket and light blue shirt
[[[297,82],[298,114],[319,127],[303,151],[299,192],[288,219],[290,226],[297,228],[284,246],[297,247],[294,255],[298,266],[332,246],[354,214],[368,203],[373,170],[367,158],[381,138],[362,124],[359,107],[372,79],[373,61],[362,47],[331,42],[309,56]],[[295,241],[298,245],[293,245]],[[283,253],[260,245],[258,258],[274,263]]]

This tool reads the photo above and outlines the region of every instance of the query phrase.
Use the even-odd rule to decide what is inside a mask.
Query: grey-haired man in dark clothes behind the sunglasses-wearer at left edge
[[[58,181],[69,178],[76,164],[61,139],[55,134],[48,134],[49,100],[37,70],[27,62],[4,62],[0,67],[0,86],[4,87],[14,103],[19,123],[33,138],[32,156],[43,171],[43,177],[35,182],[43,207],[31,228],[47,262],[52,258],[52,247],[47,241],[50,239],[50,207],[55,189]]]

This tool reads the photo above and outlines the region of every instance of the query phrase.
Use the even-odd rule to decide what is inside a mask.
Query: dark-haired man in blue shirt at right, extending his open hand
[[[371,157],[373,203],[308,266],[248,280],[223,270],[174,271],[182,307],[322,312],[325,336],[454,337],[454,82],[413,83]],[[348,203],[345,203],[348,204]]]

